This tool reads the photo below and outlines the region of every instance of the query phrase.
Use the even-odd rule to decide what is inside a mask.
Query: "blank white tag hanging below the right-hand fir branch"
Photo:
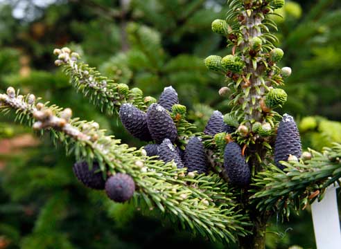
[[[329,187],[322,201],[311,205],[317,249],[341,248],[340,218],[336,188]]]

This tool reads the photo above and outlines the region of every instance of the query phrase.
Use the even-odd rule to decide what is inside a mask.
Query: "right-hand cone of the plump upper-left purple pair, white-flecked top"
[[[159,104],[151,104],[147,111],[148,129],[152,139],[160,144],[165,138],[174,142],[177,127],[169,113]]]

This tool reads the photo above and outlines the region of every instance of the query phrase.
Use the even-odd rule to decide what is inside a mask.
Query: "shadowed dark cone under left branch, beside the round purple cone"
[[[73,165],[73,173],[81,183],[93,190],[103,190],[105,181],[102,172],[97,172],[98,169],[99,165],[96,162],[93,163],[91,170],[85,161]]]

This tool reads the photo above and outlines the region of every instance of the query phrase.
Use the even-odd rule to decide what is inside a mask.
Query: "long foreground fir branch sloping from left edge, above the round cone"
[[[229,186],[219,176],[186,175],[186,169],[177,169],[172,162],[164,164],[146,156],[143,149],[105,136],[97,123],[71,119],[70,109],[37,103],[34,95],[18,95],[12,87],[0,95],[0,104],[2,111],[16,111],[19,120],[34,129],[51,131],[78,160],[98,161],[103,175],[130,174],[137,185],[137,205],[157,208],[212,241],[236,241],[248,234],[247,216],[240,214]]]

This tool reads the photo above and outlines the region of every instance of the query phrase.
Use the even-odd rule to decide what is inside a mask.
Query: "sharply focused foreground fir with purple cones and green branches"
[[[91,173],[96,173],[96,180],[102,174],[100,181],[106,181],[110,199],[157,209],[211,241],[265,248],[270,216],[289,216],[290,208],[298,211],[322,199],[326,187],[341,177],[341,145],[301,154],[295,121],[274,111],[286,102],[286,92],[279,86],[290,76],[290,68],[277,66],[285,55],[274,46],[277,37],[270,33],[276,24],[269,16],[277,15],[274,10],[283,3],[231,0],[227,18],[212,22],[213,32],[226,38],[231,54],[210,55],[204,63],[225,75],[227,86],[219,92],[228,88],[231,112],[222,116],[215,111],[205,128],[209,132],[195,130],[186,119],[186,107],[173,101],[167,89],[157,104],[140,89],[101,75],[70,48],[53,51],[58,57],[55,64],[64,68],[85,98],[111,115],[120,115],[133,136],[154,140],[148,144],[157,144],[154,157],[143,147],[131,148],[107,136],[96,122],[73,118],[71,109],[44,103],[33,94],[20,95],[13,87],[0,95],[1,109],[14,110],[20,122],[50,132],[68,154],[75,154],[75,163],[86,166],[75,171],[81,182],[89,185]],[[128,122],[130,115],[136,118]],[[195,156],[194,149],[200,158],[193,161],[205,161],[208,172],[203,165],[192,171],[188,155]],[[53,200],[49,206],[55,208]]]

